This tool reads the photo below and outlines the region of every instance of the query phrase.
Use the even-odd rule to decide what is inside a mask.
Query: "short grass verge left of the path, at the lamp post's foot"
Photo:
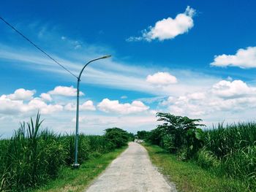
[[[64,167],[59,172],[59,177],[52,180],[47,185],[33,192],[41,191],[84,191],[95,177],[97,177],[103,170],[106,169],[113,159],[121,154],[127,147],[114,150],[113,152],[103,154],[97,158],[92,158],[85,161],[80,169],[71,169]]]

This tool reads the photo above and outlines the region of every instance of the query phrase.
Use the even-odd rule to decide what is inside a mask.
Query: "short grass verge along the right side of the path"
[[[148,150],[152,163],[176,183],[178,191],[249,191],[241,181],[218,177],[192,162],[178,161],[175,155],[165,153],[157,145],[143,146]]]

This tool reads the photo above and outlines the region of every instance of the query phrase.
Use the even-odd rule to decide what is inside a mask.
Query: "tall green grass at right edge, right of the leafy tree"
[[[256,187],[256,123],[234,123],[205,131],[197,163]]]

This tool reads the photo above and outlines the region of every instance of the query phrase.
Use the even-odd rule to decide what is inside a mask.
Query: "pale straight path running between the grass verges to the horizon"
[[[130,142],[124,151],[101,174],[86,192],[165,192],[176,191],[151,164],[146,149]]]

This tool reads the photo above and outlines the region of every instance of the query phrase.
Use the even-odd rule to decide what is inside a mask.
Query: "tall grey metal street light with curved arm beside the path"
[[[83,73],[83,70],[88,66],[91,62],[97,61],[99,59],[103,58],[110,58],[111,55],[105,55],[101,58],[95,58],[91,61],[89,61],[85,66],[83,66],[83,69],[80,71],[80,74],[78,76],[78,85],[77,85],[77,114],[76,114],[76,122],[75,122],[75,163],[72,164],[74,168],[78,168],[80,164],[78,164],[78,126],[79,126],[79,84],[80,84],[80,77]]]

